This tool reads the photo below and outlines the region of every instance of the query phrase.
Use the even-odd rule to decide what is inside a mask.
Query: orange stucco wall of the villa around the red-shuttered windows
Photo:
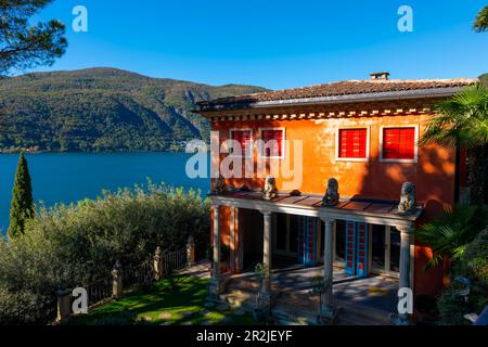
[[[271,113],[272,114],[272,113]],[[220,143],[228,140],[230,129],[252,129],[254,140],[258,139],[259,128],[285,128],[286,140],[303,141],[303,181],[287,187],[286,190],[299,190],[303,193],[323,194],[329,178],[336,178],[342,196],[399,200],[401,184],[411,181],[416,184],[418,201],[425,206],[423,223],[432,220],[445,206],[454,203],[454,153],[436,145],[419,149],[418,163],[381,163],[380,134],[383,126],[418,126],[419,133],[425,130],[432,115],[368,116],[329,119],[299,120],[256,120],[256,121],[217,121],[213,130],[218,131]],[[370,137],[369,159],[365,162],[347,162],[336,159],[336,133],[339,128],[368,127]],[[222,160],[227,154],[220,155]],[[294,167],[297,153],[293,149],[285,153],[284,159],[267,159],[269,163],[288,160]],[[253,162],[259,160],[257,149]],[[301,164],[301,160],[299,163]],[[285,180],[274,175],[279,190],[283,190]],[[253,189],[262,189],[262,178],[237,178],[228,180],[234,187],[246,184]],[[224,208],[223,208],[224,209]],[[222,241],[229,223],[227,213],[221,214]],[[432,256],[428,247],[415,245],[415,294],[435,294],[442,285],[442,270],[433,269],[425,273],[423,266]]]

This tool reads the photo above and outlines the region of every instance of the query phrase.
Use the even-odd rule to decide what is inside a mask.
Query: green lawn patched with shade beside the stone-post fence
[[[73,320],[76,325],[255,324],[251,314],[206,307],[208,280],[172,275],[150,288],[100,306]]]

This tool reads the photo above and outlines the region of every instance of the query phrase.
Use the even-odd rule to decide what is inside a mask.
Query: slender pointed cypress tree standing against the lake
[[[30,184],[29,168],[24,153],[18,157],[17,171],[12,192],[10,207],[9,236],[15,237],[24,232],[25,221],[35,215],[33,187]]]

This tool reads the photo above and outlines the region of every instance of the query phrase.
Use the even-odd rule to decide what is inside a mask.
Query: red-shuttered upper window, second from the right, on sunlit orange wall
[[[337,158],[368,158],[368,129],[339,129]]]

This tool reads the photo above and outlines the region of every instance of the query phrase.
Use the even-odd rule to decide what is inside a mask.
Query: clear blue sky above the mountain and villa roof
[[[88,33],[72,10],[88,9]],[[397,29],[413,9],[413,33]],[[488,33],[471,25],[486,0],[54,0],[42,18],[67,24],[67,53],[37,70],[112,66],[153,77],[271,89],[368,78],[477,77]]]

